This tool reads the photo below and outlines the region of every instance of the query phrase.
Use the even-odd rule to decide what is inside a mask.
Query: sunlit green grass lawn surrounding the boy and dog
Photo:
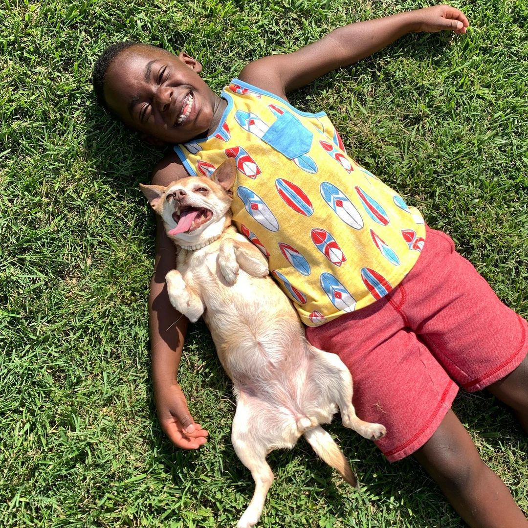
[[[262,5],[261,5],[262,4]],[[4,0],[0,6],[0,525],[232,526],[252,494],[230,445],[229,381],[202,324],[181,383],[210,430],[199,452],[161,431],[149,376],[154,221],[138,192],[162,155],[97,107],[109,43],[183,47],[220,90],[250,60],[420,2]],[[528,4],[474,0],[464,37],[409,35],[291,95],[324,108],[349,153],[449,232],[528,316]],[[305,22],[307,20],[307,22]],[[527,441],[487,394],[455,410],[528,511]],[[275,452],[261,526],[461,526],[413,460],[338,438],[347,487],[305,442]]]

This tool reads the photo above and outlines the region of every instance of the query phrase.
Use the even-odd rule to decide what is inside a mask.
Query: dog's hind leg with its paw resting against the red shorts
[[[381,423],[365,422],[357,417],[352,404],[352,375],[340,357],[315,347],[312,347],[312,350],[318,355],[319,361],[323,361],[323,365],[319,363],[317,369],[319,374],[323,375],[320,381],[326,385],[326,390],[332,392],[333,400],[341,411],[343,425],[369,440],[376,440],[385,435],[386,429]]]

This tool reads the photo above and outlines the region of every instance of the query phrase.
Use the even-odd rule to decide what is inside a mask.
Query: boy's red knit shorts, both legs
[[[306,335],[350,369],[357,416],[387,428],[376,444],[395,461],[432,436],[457,384],[483,389],[521,363],[526,327],[448,235],[427,228],[422,254],[397,288]]]

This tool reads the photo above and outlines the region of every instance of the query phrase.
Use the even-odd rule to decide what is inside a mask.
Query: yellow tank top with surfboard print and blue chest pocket
[[[191,175],[237,162],[233,221],[269,260],[304,324],[388,294],[425,242],[417,209],[347,157],[324,112],[308,114],[234,79],[212,135],[177,145]]]

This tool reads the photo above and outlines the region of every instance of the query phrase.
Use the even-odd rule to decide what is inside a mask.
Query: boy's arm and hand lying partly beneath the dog
[[[171,155],[156,166],[152,183],[168,185],[185,176],[188,174],[181,162]],[[173,444],[183,449],[197,449],[205,444],[208,432],[194,422],[176,381],[187,319],[172,307],[165,284],[165,275],[176,267],[176,248],[157,215],[156,222],[156,260],[148,297],[154,398],[162,429]]]

